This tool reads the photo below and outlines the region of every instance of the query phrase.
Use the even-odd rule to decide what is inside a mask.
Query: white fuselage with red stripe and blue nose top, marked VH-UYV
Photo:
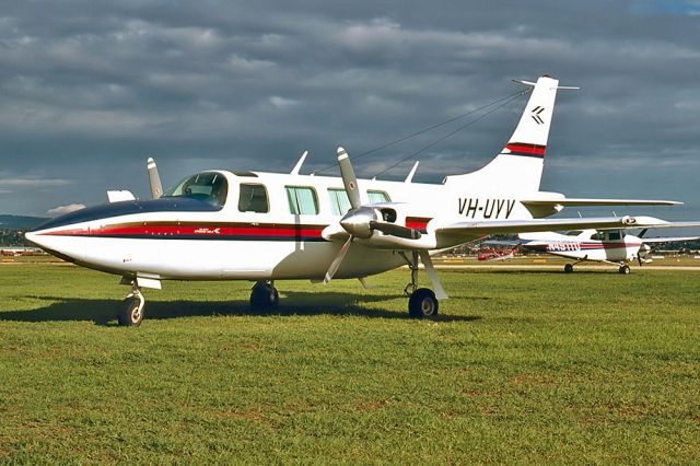
[[[349,207],[339,177],[205,174],[223,177],[225,195],[219,202],[183,197],[114,202],[54,219],[27,237],[73,263],[128,277],[278,280],[324,276],[340,247],[324,237],[324,230],[337,224]],[[516,198],[495,191],[369,179],[359,180],[359,186],[363,203],[390,205],[396,224],[423,233],[420,240],[404,241],[402,251],[454,246],[450,238],[434,234],[444,223],[533,218]],[[244,205],[256,193],[265,193],[264,201],[257,199],[260,206]],[[368,240],[371,248],[368,241],[355,241],[353,254],[336,276],[365,277],[405,265],[396,241],[382,246],[382,236],[374,232]]]

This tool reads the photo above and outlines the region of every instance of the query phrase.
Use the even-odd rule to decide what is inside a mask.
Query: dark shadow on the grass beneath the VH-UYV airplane
[[[299,315],[352,315],[374,318],[409,318],[405,304],[401,311],[387,308],[366,308],[362,303],[380,302],[392,299],[405,299],[402,295],[373,296],[354,293],[312,293],[288,291],[282,293],[278,310],[272,312],[253,312],[248,301],[155,301],[145,303],[145,319],[166,319],[192,316],[299,316]],[[90,300],[63,296],[45,296],[50,304],[30,311],[0,312],[0,321],[14,322],[55,322],[91,321],[95,325],[116,326],[116,315],[120,302],[116,300]],[[468,322],[479,316],[438,315],[430,321]]]

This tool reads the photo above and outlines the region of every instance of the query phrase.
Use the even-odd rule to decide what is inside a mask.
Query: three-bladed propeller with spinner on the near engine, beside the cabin
[[[330,263],[326,277],[324,278],[324,283],[328,283],[336,275],[340,264],[342,264],[342,260],[348,254],[350,244],[355,237],[369,240],[375,230],[406,240],[418,240],[421,236],[420,232],[416,229],[381,221],[381,214],[376,209],[362,206],[358,178],[354,175],[348,152],[346,152],[343,148],[338,148],[338,166],[340,168],[342,184],[350,200],[350,210],[340,219],[340,226],[348,232],[350,237],[348,237],[348,241],[342,245],[338,255],[332,259],[332,263]]]

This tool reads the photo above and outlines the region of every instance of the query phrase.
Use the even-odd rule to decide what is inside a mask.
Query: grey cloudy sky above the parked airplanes
[[[98,203],[106,188],[148,196],[149,156],[166,185],[206,168],[289,171],[303,150],[308,173],[338,144],[365,152],[548,73],[582,90],[559,95],[544,189],[677,199],[687,206],[644,211],[700,219],[697,0],[0,5],[0,213]],[[422,152],[416,179],[483,165],[523,105]],[[355,170],[373,176],[453,129]]]

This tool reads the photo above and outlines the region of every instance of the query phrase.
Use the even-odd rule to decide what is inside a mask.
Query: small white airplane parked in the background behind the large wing
[[[640,218],[637,218],[638,221]],[[642,220],[643,221],[643,220]],[[555,256],[574,259],[575,263],[564,265],[564,271],[570,273],[573,266],[583,261],[606,263],[619,266],[618,271],[627,275],[630,267],[627,263],[637,260],[641,266],[651,263],[650,244],[693,241],[700,236],[654,237],[644,238],[648,229],[664,229],[679,226],[698,226],[697,223],[660,223],[642,230],[637,236],[625,229],[574,230],[565,233],[539,232],[521,233],[518,242],[493,241],[489,244],[520,245],[523,249],[552,254]]]

